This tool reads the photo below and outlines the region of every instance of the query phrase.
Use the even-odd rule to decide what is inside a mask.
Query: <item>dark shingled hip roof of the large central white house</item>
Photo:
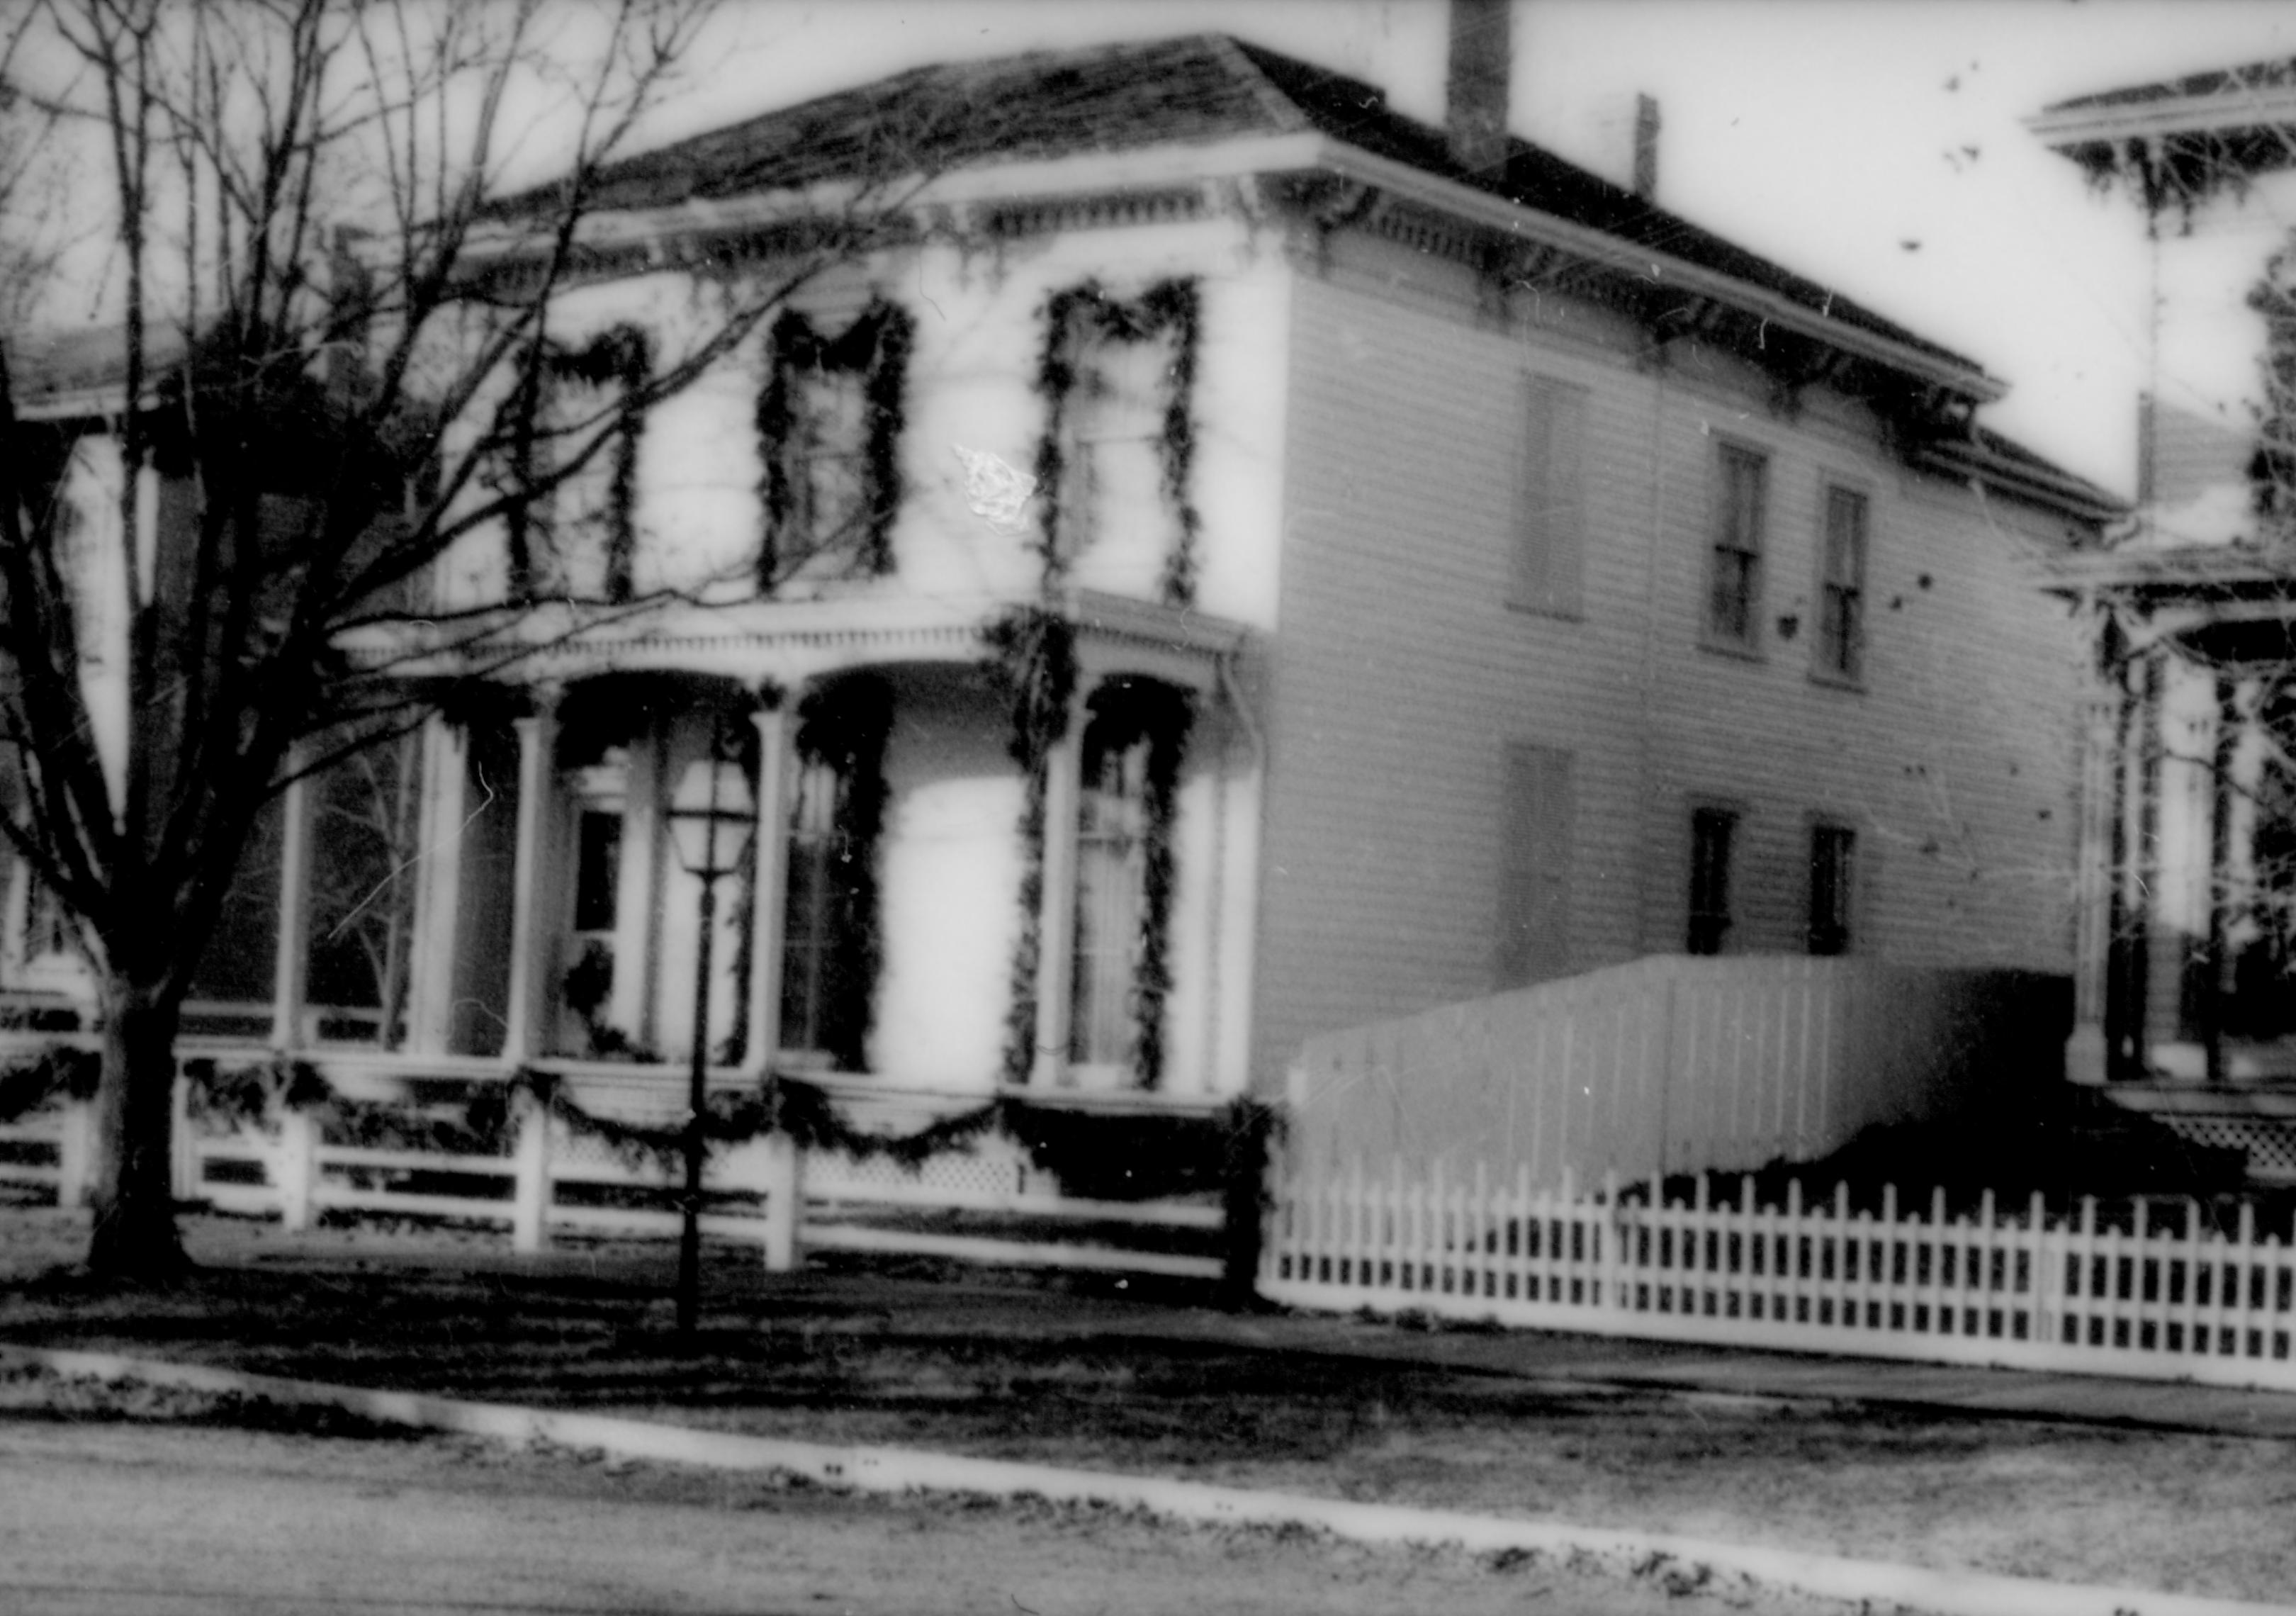
[[[1389,110],[1380,87],[1226,34],[912,69],[634,156],[599,174],[592,204],[664,209],[866,174],[932,174],[1251,135],[1345,142],[1612,241],[1715,271],[1965,372],[1977,393],[1991,390],[1975,360],[1552,152],[1511,138],[1504,172],[1469,172],[1451,161],[1444,131]]]

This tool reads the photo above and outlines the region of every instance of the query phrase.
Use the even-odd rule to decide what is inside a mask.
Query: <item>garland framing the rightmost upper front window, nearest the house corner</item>
[[[1068,574],[1068,558],[1061,553],[1061,480],[1068,473],[1061,427],[1077,386],[1077,344],[1086,335],[1107,342],[1150,342],[1171,333],[1176,351],[1164,376],[1164,432],[1157,441],[1157,461],[1178,537],[1164,558],[1157,588],[1166,606],[1196,604],[1196,535],[1203,519],[1189,498],[1189,473],[1196,464],[1192,402],[1196,397],[1201,324],[1203,298],[1194,280],[1159,280],[1132,303],[1120,303],[1097,280],[1086,280],[1079,287],[1056,292],[1045,305],[1045,351],[1035,367],[1035,390],[1045,399],[1045,436],[1035,445],[1035,487],[1042,496],[1038,556],[1047,588]]]

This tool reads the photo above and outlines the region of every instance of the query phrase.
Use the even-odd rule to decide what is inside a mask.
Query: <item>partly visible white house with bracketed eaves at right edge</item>
[[[2053,106],[2151,257],[2140,505],[2062,569],[2101,613],[2076,1074],[2296,1077],[2296,62]],[[2227,1125],[2229,1127],[2229,1125]],[[2239,1143],[2259,1143],[2234,1129]],[[2234,1134],[2211,1139],[2229,1143]],[[2268,1143],[2296,1171],[2296,1136]]]

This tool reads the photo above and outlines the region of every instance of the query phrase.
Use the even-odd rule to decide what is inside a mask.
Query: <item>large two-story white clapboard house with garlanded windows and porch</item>
[[[680,1058],[661,813],[709,751],[767,803],[714,946],[737,1072],[1201,1100],[1649,953],[2066,969],[2082,631],[2034,578],[2112,500],[1977,427],[1972,360],[1508,140],[1504,57],[1453,83],[1428,129],[1187,37],[608,174],[631,252],[565,298],[546,409],[854,154],[930,179],[905,246],[441,565],[441,613],[680,599],[289,799],[204,1026]],[[69,976],[41,914],[18,881],[25,989]]]

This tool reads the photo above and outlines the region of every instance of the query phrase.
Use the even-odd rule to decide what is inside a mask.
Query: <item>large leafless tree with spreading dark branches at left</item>
[[[675,342],[553,340],[569,287],[629,266],[599,184],[703,21],[705,0],[32,0],[9,32],[0,110],[87,158],[73,195],[99,202],[55,241],[108,207],[119,333],[108,512],[0,337],[5,833],[99,985],[99,1272],[181,1260],[174,1038],[264,801],[404,735],[411,693],[439,693],[411,673],[498,670],[537,613],[565,634],[643,608],[627,556],[569,560],[553,494],[627,484],[645,411],[886,216],[856,188],[737,269],[703,255],[705,319]],[[537,142],[546,184],[505,200]],[[188,516],[161,521],[158,489]],[[436,611],[420,581],[482,528],[510,533],[503,597]]]

